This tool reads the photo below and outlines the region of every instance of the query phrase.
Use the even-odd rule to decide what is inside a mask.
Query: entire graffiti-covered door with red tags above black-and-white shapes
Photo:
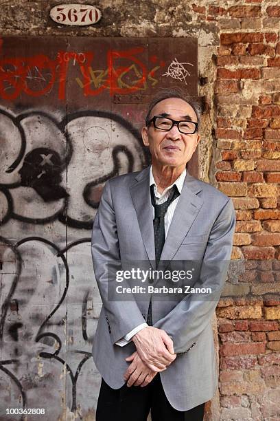
[[[106,181],[149,163],[143,105],[196,80],[197,44],[5,37],[0,49],[0,419],[40,407],[47,421],[95,420],[91,228]]]

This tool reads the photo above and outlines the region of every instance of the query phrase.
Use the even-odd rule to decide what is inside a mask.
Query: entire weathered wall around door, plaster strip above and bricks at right
[[[279,292],[280,282],[279,1],[85,3],[102,10],[96,27],[56,28],[45,1],[3,0],[1,32],[198,37],[200,95],[208,103],[200,177],[232,197],[232,259],[250,263],[244,283],[263,282],[259,298],[222,299],[217,308],[220,419],[279,420],[280,301],[262,295]]]

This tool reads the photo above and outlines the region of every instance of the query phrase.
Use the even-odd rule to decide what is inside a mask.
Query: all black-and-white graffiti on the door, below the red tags
[[[58,419],[63,405],[82,419],[100,382],[91,347],[101,310],[83,230],[106,180],[143,168],[148,156],[135,127],[113,113],[0,115],[0,385],[13,391],[1,394],[0,418],[5,406],[42,400],[47,382],[46,419]]]

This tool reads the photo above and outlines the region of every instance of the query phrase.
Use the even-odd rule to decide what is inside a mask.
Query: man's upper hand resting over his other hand
[[[152,371],[162,371],[175,360],[173,341],[164,330],[148,326],[132,336],[137,353]]]

